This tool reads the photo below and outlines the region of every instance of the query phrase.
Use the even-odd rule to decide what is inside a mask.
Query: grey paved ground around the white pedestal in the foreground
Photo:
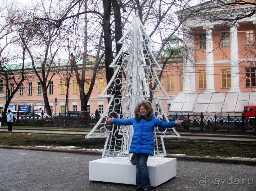
[[[89,181],[100,155],[0,148],[0,191],[134,191],[134,185]],[[135,178],[135,177],[131,177]],[[177,161],[177,176],[153,191],[255,191],[256,166]]]

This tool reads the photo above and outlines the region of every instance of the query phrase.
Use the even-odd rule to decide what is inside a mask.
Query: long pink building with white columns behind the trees
[[[215,6],[215,1],[208,3],[203,6]],[[201,6],[202,4],[194,6],[194,9],[199,9]],[[254,6],[250,4],[233,5],[230,9],[220,6],[211,10],[211,14],[221,13],[225,17],[226,13],[229,15],[239,14],[239,12],[253,9]],[[181,17],[180,12],[176,14]],[[184,13],[182,14],[184,15]],[[183,23],[183,43],[177,42],[177,46],[187,48],[187,51],[183,52],[183,60],[178,57],[170,59],[163,71],[161,83],[170,96],[170,100],[165,100],[162,103],[163,109],[167,112],[174,96],[180,93],[255,92],[255,24],[256,17],[254,15],[237,20],[232,25],[218,20],[208,21],[203,15],[190,16],[190,19]],[[159,64],[161,65],[160,61]],[[19,64],[16,64],[12,67],[16,69],[18,66]],[[87,66],[86,90],[89,88],[92,67],[93,64]],[[38,70],[40,70],[40,66]],[[10,105],[16,105],[16,110],[18,105],[30,104],[31,109],[33,105],[44,105],[40,82],[33,72],[28,70],[26,75],[30,78],[23,82],[23,87],[15,94],[10,103]],[[0,111],[3,110],[6,102],[4,83],[4,81],[0,81]],[[10,82],[9,84],[10,89],[14,88],[14,83]],[[106,108],[107,99],[98,97],[105,87],[105,70],[102,69],[97,76],[93,93],[88,102],[90,113],[95,113],[96,109],[102,113]],[[67,89],[61,75],[56,74],[51,79],[47,91],[53,113],[64,112]],[[78,92],[79,87],[74,76],[70,81],[67,110],[81,110]],[[57,98],[56,104],[55,98]]]

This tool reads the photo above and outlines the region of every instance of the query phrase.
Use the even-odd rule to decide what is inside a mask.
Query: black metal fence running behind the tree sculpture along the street
[[[49,116],[46,113],[16,113],[13,125],[17,126],[37,126],[37,127],[75,127],[75,128],[92,128],[98,122],[100,115],[85,115],[71,113],[53,113]],[[74,114],[74,113],[73,113]],[[107,117],[107,116],[105,116]],[[165,120],[163,116],[159,116]],[[184,120],[183,124],[176,127],[177,131],[192,132],[214,132],[214,133],[233,133],[233,134],[255,134],[256,135],[256,118],[246,121],[242,115],[238,116],[208,116],[208,115],[167,115],[169,121],[176,119]],[[5,117],[6,122],[6,117]],[[103,120],[103,123],[105,121]]]

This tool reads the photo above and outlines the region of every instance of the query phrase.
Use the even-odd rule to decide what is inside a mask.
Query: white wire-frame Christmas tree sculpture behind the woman
[[[161,67],[155,60],[149,38],[138,16],[118,41],[122,48],[110,68],[115,73],[100,98],[108,98],[108,107],[86,138],[106,138],[102,157],[128,156],[133,135],[132,126],[109,125],[106,117],[133,118],[135,106],[140,101],[152,104],[156,117],[168,121],[161,106],[162,99],[170,99],[162,87],[157,71]],[[119,92],[118,92],[119,91]],[[180,137],[174,128],[154,130],[154,156],[165,156],[164,137]]]

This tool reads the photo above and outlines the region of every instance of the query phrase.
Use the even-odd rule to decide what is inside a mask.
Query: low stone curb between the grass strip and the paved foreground
[[[78,149],[62,149],[62,148],[40,148],[40,147],[24,147],[24,146],[3,146],[4,149],[22,149],[22,150],[34,150],[34,151],[50,151],[50,152],[68,152],[76,154],[89,154],[89,155],[102,155],[101,151],[94,150],[78,150]],[[199,157],[199,156],[187,156],[187,155],[174,155],[166,154],[167,158],[176,158],[177,160],[194,161],[194,162],[207,162],[207,163],[226,163],[226,164],[244,164],[256,166],[256,160],[252,159],[240,159],[240,158],[222,158],[222,157]]]

